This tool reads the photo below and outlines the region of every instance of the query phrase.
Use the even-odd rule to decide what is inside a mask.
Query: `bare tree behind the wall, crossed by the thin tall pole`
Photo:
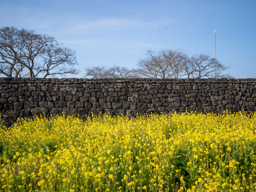
[[[222,74],[222,71],[228,67],[216,60],[216,77],[217,78],[234,78],[230,74]],[[215,60],[209,55],[196,54],[184,65],[184,75],[193,78],[215,77]]]

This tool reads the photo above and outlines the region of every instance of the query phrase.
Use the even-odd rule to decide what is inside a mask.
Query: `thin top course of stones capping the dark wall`
[[[2,77],[0,78],[1,83],[6,82],[70,82],[70,83],[122,83],[122,82],[136,82],[136,83],[186,83],[186,82],[195,82],[195,83],[248,83],[248,82],[256,82],[254,78],[246,78],[246,79],[228,79],[228,78],[186,78],[186,79],[154,79],[154,78],[92,78],[92,79],[84,79],[84,78],[10,78],[10,77]]]

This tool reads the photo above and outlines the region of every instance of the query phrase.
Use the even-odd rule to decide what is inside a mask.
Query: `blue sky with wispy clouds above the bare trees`
[[[0,0],[0,27],[54,36],[76,50],[78,68],[136,67],[144,50],[209,54],[236,78],[256,77],[255,0]],[[70,75],[69,77],[73,77]]]

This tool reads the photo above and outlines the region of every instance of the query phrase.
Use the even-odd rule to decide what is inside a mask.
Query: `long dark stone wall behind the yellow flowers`
[[[255,111],[256,79],[77,79],[0,78],[4,124],[33,115],[82,118],[99,114],[130,116],[172,111]]]

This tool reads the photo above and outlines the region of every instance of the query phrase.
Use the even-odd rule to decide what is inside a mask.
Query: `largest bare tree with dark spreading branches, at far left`
[[[41,74],[44,77],[78,74],[78,70],[74,68],[77,64],[76,52],[61,48],[62,44],[54,37],[14,27],[1,28],[0,32],[0,73],[12,76],[14,70],[15,76],[30,78]]]

